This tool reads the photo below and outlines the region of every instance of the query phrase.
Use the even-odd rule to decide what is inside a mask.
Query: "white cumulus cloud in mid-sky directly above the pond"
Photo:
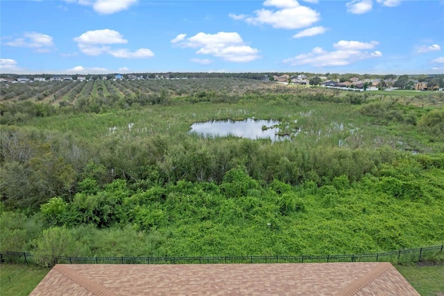
[[[179,36],[180,41],[177,40]],[[182,48],[198,49],[196,54],[209,54],[216,58],[222,58],[229,62],[250,62],[259,58],[259,51],[246,44],[241,36],[236,32],[219,32],[216,34],[197,33],[190,38],[185,38],[184,34],[171,40]]]

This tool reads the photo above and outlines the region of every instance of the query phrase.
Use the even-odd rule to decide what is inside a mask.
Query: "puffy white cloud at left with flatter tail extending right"
[[[101,54],[110,54],[116,58],[151,58],[154,56],[150,49],[137,49],[130,51],[128,49],[113,49],[112,44],[126,44],[128,40],[118,31],[105,28],[103,30],[87,31],[74,38],[78,49],[87,56],[99,56]]]

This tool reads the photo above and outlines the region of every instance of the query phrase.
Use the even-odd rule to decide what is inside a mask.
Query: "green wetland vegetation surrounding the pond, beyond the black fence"
[[[60,83],[1,88],[2,250],[225,256],[443,244],[443,92],[234,78]],[[259,131],[289,138],[189,132],[253,117],[276,121]]]

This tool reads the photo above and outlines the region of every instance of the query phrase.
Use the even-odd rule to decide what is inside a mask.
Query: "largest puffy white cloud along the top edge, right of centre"
[[[273,28],[286,29],[304,28],[321,19],[321,15],[316,10],[301,6],[296,0],[266,0],[263,5],[267,8],[255,10],[254,16],[234,13],[228,16],[232,19],[243,19],[248,24],[268,24]]]

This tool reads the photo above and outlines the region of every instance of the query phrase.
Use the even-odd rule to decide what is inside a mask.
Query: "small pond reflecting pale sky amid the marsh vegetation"
[[[279,129],[273,127],[280,124],[278,120],[214,120],[210,122],[197,122],[191,125],[190,133],[203,135],[205,138],[224,137],[228,135],[249,139],[271,139],[274,141],[289,139],[289,136],[276,135]],[[268,129],[263,130],[262,126]]]

